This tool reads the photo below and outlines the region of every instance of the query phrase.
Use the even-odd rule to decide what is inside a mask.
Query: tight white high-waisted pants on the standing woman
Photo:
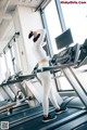
[[[48,67],[48,63],[39,64],[39,68]],[[44,98],[42,98],[42,107],[44,107],[44,115],[48,115],[49,113],[49,99],[55,108],[60,108],[58,105],[58,101],[53,93],[53,84],[51,81],[50,72],[39,73],[38,78],[41,80],[42,89],[44,89]]]

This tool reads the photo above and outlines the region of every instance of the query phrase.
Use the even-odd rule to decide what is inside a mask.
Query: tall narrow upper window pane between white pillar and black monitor
[[[45,15],[46,15],[46,20],[47,20],[47,25],[48,25],[50,39],[51,39],[53,54],[55,54],[55,53],[58,53],[58,49],[55,46],[54,38],[62,32],[62,29],[61,29],[54,0],[51,0],[51,2],[46,6]]]

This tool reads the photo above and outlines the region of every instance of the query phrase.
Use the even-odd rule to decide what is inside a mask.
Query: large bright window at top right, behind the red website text
[[[61,6],[66,28],[71,28],[75,43],[83,43],[87,38],[87,4],[78,0],[69,4],[64,2],[61,1]]]

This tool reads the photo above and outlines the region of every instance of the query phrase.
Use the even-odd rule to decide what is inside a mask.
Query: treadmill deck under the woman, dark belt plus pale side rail
[[[65,121],[63,121],[63,123],[65,123],[67,121],[67,119],[72,116],[75,117],[76,113],[79,113],[83,110],[76,109],[76,108],[69,108],[66,112],[60,113],[57,115],[57,119],[49,121],[47,123],[42,122],[42,114],[38,115],[36,117],[32,117],[32,118],[26,118],[25,120],[20,120],[17,122],[13,121],[12,123],[10,123],[10,130],[53,130],[54,126],[51,127],[53,123],[55,123],[55,126],[60,126],[62,125],[62,121],[64,119],[66,119]],[[54,114],[54,110],[51,112],[51,114]],[[79,115],[79,114],[78,114]],[[60,123],[59,123],[60,121]]]

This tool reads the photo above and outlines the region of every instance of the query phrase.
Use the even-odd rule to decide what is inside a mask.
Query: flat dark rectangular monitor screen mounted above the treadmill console
[[[63,34],[58,36],[55,38],[55,43],[57,43],[58,49],[69,47],[71,43],[73,43],[73,37],[72,37],[71,29],[69,28]]]

